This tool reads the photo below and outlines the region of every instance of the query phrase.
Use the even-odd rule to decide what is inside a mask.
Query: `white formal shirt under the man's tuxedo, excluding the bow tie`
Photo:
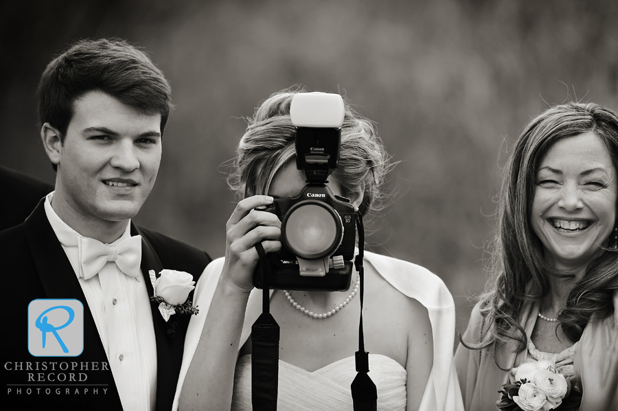
[[[155,410],[157,393],[157,343],[144,277],[128,277],[113,261],[98,275],[80,278],[77,231],[60,220],[52,208],[54,192],[45,198],[45,214],[67,253],[82,287],[114,375],[124,411]],[[130,222],[122,236],[107,246],[129,238]],[[140,270],[141,271],[141,270]],[[148,277],[146,277],[146,281]]]

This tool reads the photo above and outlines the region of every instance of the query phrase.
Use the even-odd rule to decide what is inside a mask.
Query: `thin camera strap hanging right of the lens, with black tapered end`
[[[354,354],[356,360],[356,377],[352,381],[352,402],[354,411],[376,411],[378,409],[378,389],[374,381],[371,381],[369,373],[369,353],[365,351],[365,336],[363,334],[363,294],[365,291],[365,269],[363,268],[363,255],[365,253],[365,228],[363,215],[356,211],[356,226],[358,227],[358,255],[354,259],[354,265],[361,279],[361,320],[358,324],[358,351]]]

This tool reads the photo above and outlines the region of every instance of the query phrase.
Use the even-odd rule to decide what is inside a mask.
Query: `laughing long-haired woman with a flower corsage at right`
[[[524,410],[618,410],[617,169],[618,117],[597,104],[549,108],[519,137],[493,279],[455,356],[466,410],[495,410],[522,377]],[[541,369],[564,376],[547,395]]]

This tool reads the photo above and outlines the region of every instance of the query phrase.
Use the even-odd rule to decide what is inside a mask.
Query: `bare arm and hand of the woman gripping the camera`
[[[262,242],[266,253],[281,248],[276,241],[281,234],[277,216],[255,210],[272,201],[268,196],[246,198],[227,222],[225,264],[185,377],[179,410],[229,410],[231,406],[244,312],[259,260],[254,246]]]

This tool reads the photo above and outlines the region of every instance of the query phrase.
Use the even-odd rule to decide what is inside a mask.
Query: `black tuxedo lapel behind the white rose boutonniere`
[[[159,274],[163,270],[161,259],[157,255],[155,248],[148,241],[148,237],[144,232],[139,230],[133,223],[131,224],[131,235],[141,235],[141,272],[146,281],[146,289],[148,295],[155,295],[155,290],[152,288],[150,275],[148,271],[154,270]],[[157,341],[157,410],[171,408],[174,390],[170,390],[170,385],[176,387],[178,375],[180,373],[180,365],[183,358],[183,340],[184,336],[174,336],[174,333],[168,333],[168,329],[175,322],[175,314],[170,318],[169,322],[165,322],[161,312],[159,312],[159,303],[150,301],[150,309],[152,310],[152,325],[155,329],[155,340]],[[184,333],[185,330],[180,331]],[[170,392],[172,395],[170,397]]]

